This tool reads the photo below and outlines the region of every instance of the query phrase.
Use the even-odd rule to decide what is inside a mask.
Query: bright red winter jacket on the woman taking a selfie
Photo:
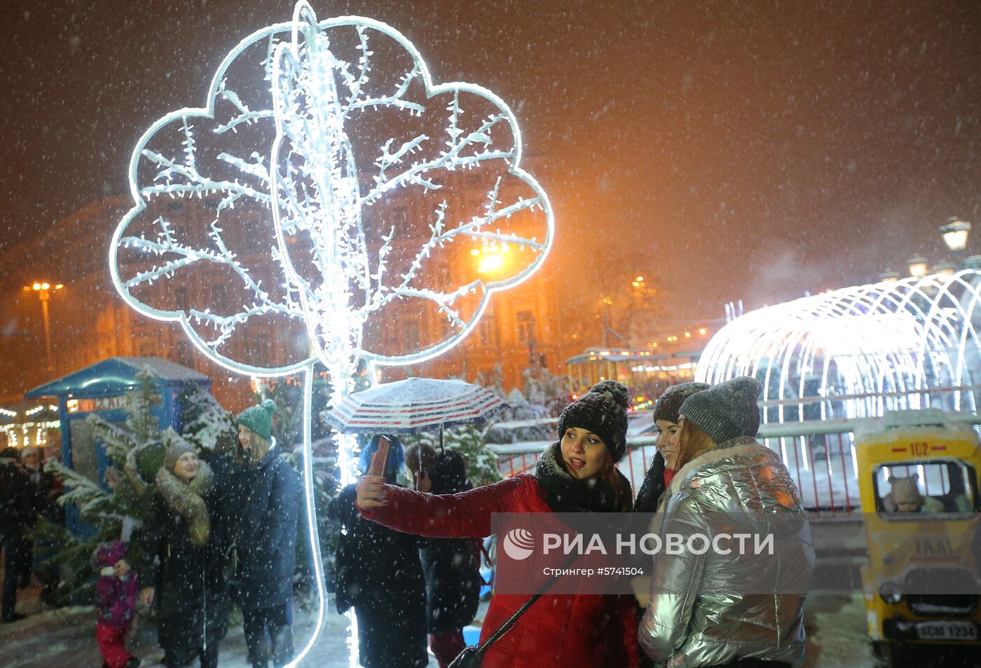
[[[518,475],[458,494],[424,494],[386,486],[387,505],[365,518],[396,531],[431,538],[490,536],[491,513],[552,512],[537,478]],[[481,629],[487,640],[528,600],[497,593]],[[623,594],[545,593],[503,638],[490,645],[481,668],[632,668],[640,664],[634,599]]]

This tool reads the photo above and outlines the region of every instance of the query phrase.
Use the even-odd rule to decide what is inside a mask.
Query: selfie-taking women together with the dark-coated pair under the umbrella
[[[656,531],[682,537],[710,534],[708,517],[740,513],[741,521],[775,529],[781,540],[769,553],[657,551],[646,577],[634,579],[634,595],[552,593],[547,586],[532,597],[494,593],[480,646],[459,653],[454,666],[802,664],[814,549],[798,488],[780,458],[755,439],[761,391],[747,377],[668,388],[654,407],[658,453],[636,498],[616,468],[627,451],[631,397],[613,381],[594,385],[562,411],[559,438],[531,474],[467,490],[427,488],[418,484],[425,476],[417,475],[415,488],[408,488],[394,484],[401,458],[389,455],[384,475],[362,475],[338,503],[349,533],[338,547],[338,569],[348,570],[338,580],[337,604],[338,611],[353,606],[357,613],[361,665],[426,665],[424,630],[415,620],[421,581],[428,606],[432,588],[430,569],[423,571],[417,553],[439,541],[490,535],[493,513],[600,512],[649,513]],[[424,471],[426,465],[410,468]],[[411,586],[394,597],[404,606],[398,610],[388,589],[396,580]],[[466,595],[441,603],[461,613],[454,626],[472,618],[469,604]],[[400,627],[397,620],[403,620]],[[428,622],[432,634],[432,618]],[[435,640],[431,635],[431,648],[445,668],[460,644],[440,653]]]

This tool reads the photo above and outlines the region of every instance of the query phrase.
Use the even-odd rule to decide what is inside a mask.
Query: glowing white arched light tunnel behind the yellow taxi
[[[981,272],[845,287],[737,318],[708,342],[697,380],[753,376],[767,424],[885,410],[977,412]]]

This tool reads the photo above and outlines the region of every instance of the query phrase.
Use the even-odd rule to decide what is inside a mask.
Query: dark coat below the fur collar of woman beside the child
[[[223,519],[214,488],[204,496],[211,521],[208,542],[191,542],[187,522],[155,491],[144,521],[141,587],[156,590],[157,638],[169,666],[189,665],[205,643],[225,638],[229,596],[225,579]],[[156,559],[154,559],[156,557]]]

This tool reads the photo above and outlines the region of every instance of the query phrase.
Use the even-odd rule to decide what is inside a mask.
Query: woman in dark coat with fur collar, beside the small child
[[[156,605],[157,641],[167,668],[218,665],[218,644],[229,626],[225,539],[214,475],[189,443],[172,444],[157,472],[144,523],[144,550],[151,563],[140,591]]]

